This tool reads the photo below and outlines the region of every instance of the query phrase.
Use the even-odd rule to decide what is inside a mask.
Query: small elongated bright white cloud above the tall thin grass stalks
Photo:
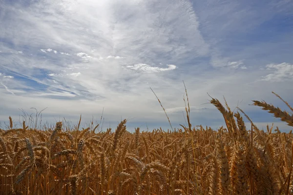
[[[123,66],[126,70],[134,70],[139,72],[147,72],[147,73],[158,73],[158,72],[164,72],[169,70],[175,70],[176,66],[172,64],[167,64],[168,68],[160,68],[155,66],[150,66],[148,64],[135,64],[133,66]]]

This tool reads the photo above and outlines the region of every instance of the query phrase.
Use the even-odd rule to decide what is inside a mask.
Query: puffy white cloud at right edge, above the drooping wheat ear
[[[293,64],[280,63],[280,64],[268,64],[266,70],[272,72],[262,78],[266,81],[288,81],[293,80]]]

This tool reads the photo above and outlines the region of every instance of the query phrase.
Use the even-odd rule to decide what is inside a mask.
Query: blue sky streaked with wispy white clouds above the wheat
[[[151,89],[178,128],[184,80],[192,126],[225,125],[210,95],[292,129],[251,105],[293,105],[292,0],[0,0],[0,26],[0,128],[46,108],[49,124],[170,129]]]

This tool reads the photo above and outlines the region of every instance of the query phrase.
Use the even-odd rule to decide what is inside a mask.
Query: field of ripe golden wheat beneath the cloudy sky
[[[280,98],[278,95],[276,95]],[[283,100],[282,98],[280,98]],[[284,100],[283,100],[284,101]],[[284,101],[285,102],[285,101]],[[0,193],[16,195],[274,195],[292,194],[292,132],[259,130],[246,114],[223,114],[217,131],[188,127],[164,132],[97,126],[0,130]],[[285,102],[290,110],[293,109]],[[254,105],[293,126],[293,116],[265,101]],[[265,111],[264,111],[265,112]],[[250,119],[249,119],[250,120]]]

